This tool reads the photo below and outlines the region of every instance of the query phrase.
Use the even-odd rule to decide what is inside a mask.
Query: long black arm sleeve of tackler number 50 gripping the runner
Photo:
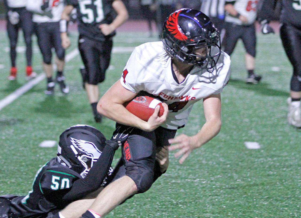
[[[106,145],[101,156],[89,170],[85,178],[76,180],[72,189],[64,195],[62,201],[71,202],[84,197],[86,194],[95,191],[103,183],[107,177],[107,173],[113,161],[115,149],[110,145]]]

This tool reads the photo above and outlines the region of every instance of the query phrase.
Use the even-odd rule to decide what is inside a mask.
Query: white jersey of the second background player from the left
[[[64,0],[49,0],[49,10],[42,11],[43,0],[28,0],[26,9],[33,12],[33,22],[58,22],[64,10]]]

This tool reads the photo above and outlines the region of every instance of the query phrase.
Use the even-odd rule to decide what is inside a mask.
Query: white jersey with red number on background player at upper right
[[[233,2],[233,0],[226,0],[225,4],[227,2]],[[236,0],[234,3],[235,10],[241,14],[247,17],[248,23],[242,23],[241,20],[239,20],[236,17],[232,17],[228,12],[226,12],[225,21],[230,23],[235,23],[238,25],[250,25],[255,22],[256,20],[256,6],[257,6],[258,0]]]

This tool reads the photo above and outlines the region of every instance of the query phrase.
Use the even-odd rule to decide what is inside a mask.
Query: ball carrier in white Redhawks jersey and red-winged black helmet
[[[95,201],[74,202],[61,211],[62,216],[77,217],[86,208],[82,217],[104,217],[127,198],[151,187],[167,169],[167,150],[178,150],[175,156],[181,156],[183,163],[194,149],[218,134],[220,93],[230,76],[230,58],[220,50],[218,30],[205,14],[185,8],[167,18],[161,39],[136,47],[121,79],[98,102],[99,113],[115,120],[117,128],[136,127],[123,145],[113,182]],[[136,95],[161,99],[163,115],[158,117],[158,107],[147,122],[131,114],[123,103]],[[201,99],[206,123],[196,135],[175,137],[177,129],[186,124],[192,105]]]

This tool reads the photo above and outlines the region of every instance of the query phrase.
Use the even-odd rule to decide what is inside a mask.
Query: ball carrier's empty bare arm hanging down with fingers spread
[[[169,150],[178,150],[175,157],[182,156],[179,162],[182,164],[192,150],[201,147],[219,133],[222,125],[221,121],[221,96],[210,95],[203,99],[203,108],[206,123],[196,135],[188,136],[185,134],[178,135],[169,139]]]

